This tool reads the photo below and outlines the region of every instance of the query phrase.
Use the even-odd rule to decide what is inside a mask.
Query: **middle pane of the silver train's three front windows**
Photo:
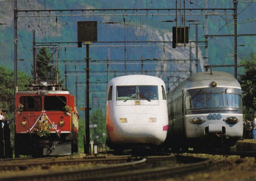
[[[224,107],[223,95],[220,93],[205,95],[206,108],[221,108]]]

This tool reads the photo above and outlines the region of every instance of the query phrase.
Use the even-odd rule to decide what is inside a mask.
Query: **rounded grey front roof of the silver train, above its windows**
[[[217,87],[233,87],[241,89],[236,78],[227,72],[198,72],[187,78],[182,84],[185,89],[196,87],[208,87],[212,81],[217,82]]]

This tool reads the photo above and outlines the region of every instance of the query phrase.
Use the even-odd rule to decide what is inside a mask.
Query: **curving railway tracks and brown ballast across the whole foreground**
[[[129,154],[126,152],[126,154]],[[131,152],[130,154],[134,154]],[[215,154],[168,154],[149,156],[119,155],[85,158],[43,158],[0,161],[0,181],[113,181],[113,180],[163,180],[169,178],[197,178],[208,176],[211,181],[220,172],[228,170],[234,175],[255,167],[255,152],[230,152],[229,155]],[[250,157],[248,157],[250,156]],[[234,165],[236,165],[234,167]],[[231,171],[236,169],[235,171]],[[243,171],[244,172],[244,171]],[[186,174],[184,174],[186,173]],[[249,169],[249,173],[252,172]],[[223,173],[222,173],[223,174]],[[186,175],[192,175],[186,177]],[[226,172],[222,177],[228,176]],[[232,176],[231,175],[231,176]],[[239,177],[238,177],[239,178]],[[256,178],[256,175],[251,175]],[[183,181],[186,181],[184,179]],[[214,178],[215,180],[218,180]],[[221,178],[223,180],[223,178]],[[192,179],[193,180],[193,179]],[[195,179],[196,180],[196,179]],[[228,180],[228,179],[227,179]],[[250,180],[250,179],[249,179]]]

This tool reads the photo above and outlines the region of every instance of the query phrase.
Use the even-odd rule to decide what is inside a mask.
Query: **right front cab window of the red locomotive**
[[[64,96],[46,96],[44,98],[44,110],[46,111],[65,111],[67,98]]]

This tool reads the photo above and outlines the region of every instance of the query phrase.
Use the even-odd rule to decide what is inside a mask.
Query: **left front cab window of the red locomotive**
[[[24,106],[23,111],[41,111],[42,98],[39,96],[20,97],[20,103]]]

